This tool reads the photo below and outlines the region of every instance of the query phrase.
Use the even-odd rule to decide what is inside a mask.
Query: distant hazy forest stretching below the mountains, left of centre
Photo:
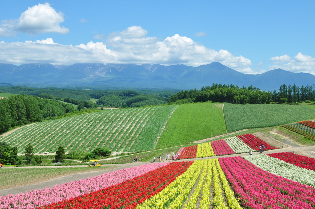
[[[103,107],[141,107],[167,104],[169,97],[178,90],[151,89],[135,90],[100,90],[72,88],[31,88],[0,86],[4,93],[36,95],[40,98],[56,99],[86,108]],[[97,103],[90,99],[99,99]]]

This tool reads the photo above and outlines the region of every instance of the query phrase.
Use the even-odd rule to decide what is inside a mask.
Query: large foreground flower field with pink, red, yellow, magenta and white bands
[[[312,166],[314,159],[272,154]],[[0,196],[0,209],[181,209],[315,207],[313,170],[268,155],[152,163]]]

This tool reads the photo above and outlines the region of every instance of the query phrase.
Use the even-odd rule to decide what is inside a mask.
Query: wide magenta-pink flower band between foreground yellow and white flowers
[[[219,159],[226,178],[246,208],[313,209],[315,189],[266,172],[242,157]]]

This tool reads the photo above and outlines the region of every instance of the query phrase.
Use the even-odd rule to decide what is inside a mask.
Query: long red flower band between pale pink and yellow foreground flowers
[[[146,199],[163,190],[184,173],[190,162],[169,163],[139,177],[83,196],[42,206],[37,209],[116,209],[135,208]]]

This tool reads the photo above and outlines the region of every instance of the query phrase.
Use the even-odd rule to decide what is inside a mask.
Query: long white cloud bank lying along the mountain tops
[[[0,43],[0,63],[20,65],[49,62],[72,65],[78,62],[162,64],[199,66],[217,61],[243,73],[254,73],[251,61],[227,50],[215,51],[189,37],[174,36],[159,40],[147,37],[147,31],[132,26],[105,37],[105,42],[88,42],[77,46],[54,43],[53,39]]]

